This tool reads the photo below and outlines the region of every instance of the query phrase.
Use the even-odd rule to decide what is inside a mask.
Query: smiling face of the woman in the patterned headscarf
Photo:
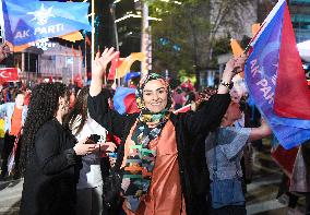
[[[167,88],[160,80],[147,82],[143,88],[143,101],[151,112],[160,112],[167,106]]]

